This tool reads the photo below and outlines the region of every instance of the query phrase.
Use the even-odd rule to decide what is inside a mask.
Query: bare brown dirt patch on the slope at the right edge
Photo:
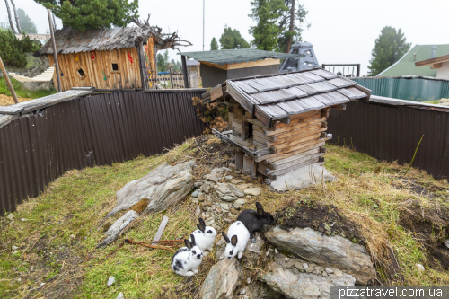
[[[443,245],[449,238],[449,207],[437,200],[425,204],[409,200],[400,209],[399,223],[426,247],[428,264],[432,268],[449,269],[449,249]]]

